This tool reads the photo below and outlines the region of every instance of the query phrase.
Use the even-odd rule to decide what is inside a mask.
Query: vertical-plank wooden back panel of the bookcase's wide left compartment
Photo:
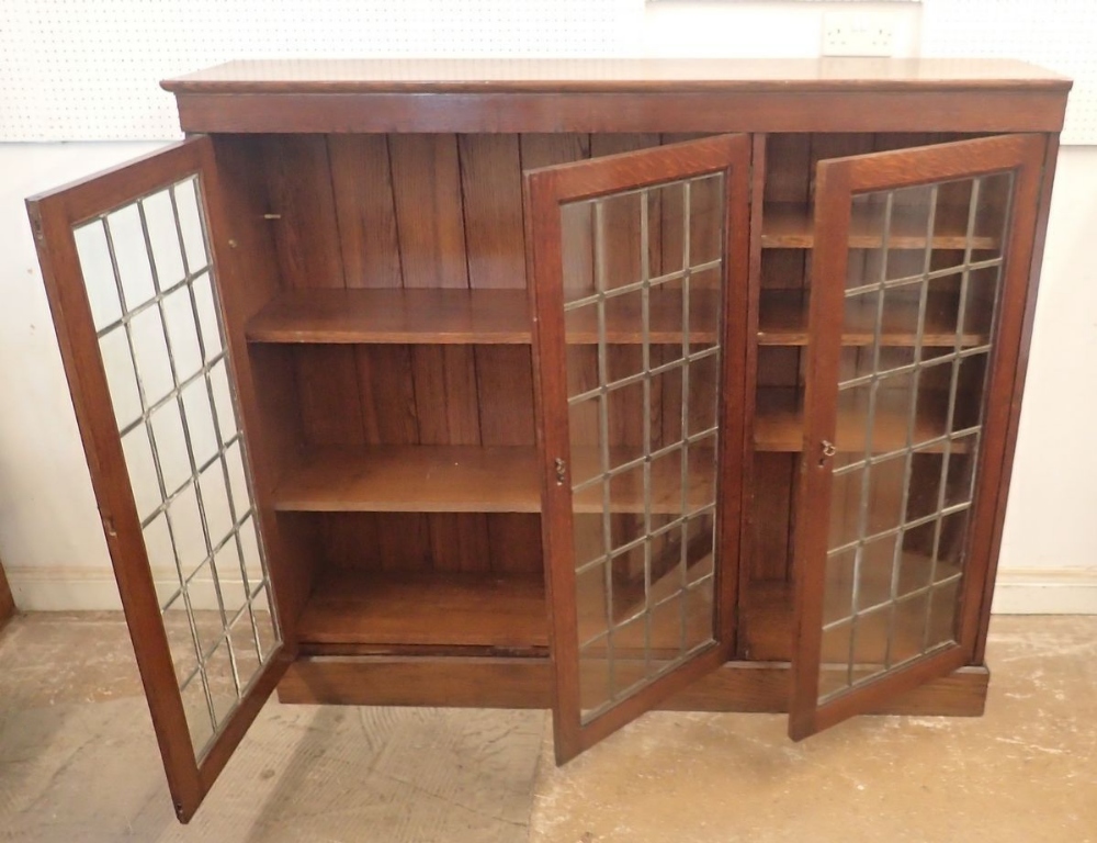
[[[685,137],[298,134],[226,143],[249,145],[261,161],[285,289],[524,289],[523,170]],[[680,251],[681,213],[667,206],[653,217],[655,271],[664,250]],[[623,222],[608,231],[615,259],[635,260],[638,232]],[[593,366],[592,348],[576,353],[589,356]],[[612,353],[624,362],[638,347]],[[525,346],[314,345],[256,349],[253,356],[292,370],[296,413],[282,415],[296,425],[298,446],[535,442]],[[635,424],[614,428],[611,445],[633,443],[645,412],[636,411]],[[655,429],[661,417],[680,412],[680,396],[664,396]],[[282,520],[301,537],[299,546],[316,544],[314,557],[340,566],[482,573],[542,567],[536,516],[330,514]]]

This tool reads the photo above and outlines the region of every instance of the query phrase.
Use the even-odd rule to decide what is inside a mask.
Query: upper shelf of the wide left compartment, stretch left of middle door
[[[251,342],[531,341],[525,290],[293,290],[247,325]]]

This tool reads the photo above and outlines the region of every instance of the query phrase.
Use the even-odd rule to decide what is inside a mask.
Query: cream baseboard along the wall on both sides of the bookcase
[[[171,587],[170,571],[156,572],[162,594]],[[9,567],[15,605],[23,611],[89,611],[121,609],[118,588],[110,570],[90,567]],[[217,608],[212,582],[194,584],[191,603]],[[238,595],[231,595],[235,600]],[[993,610],[996,615],[1097,615],[1097,569],[998,571]]]

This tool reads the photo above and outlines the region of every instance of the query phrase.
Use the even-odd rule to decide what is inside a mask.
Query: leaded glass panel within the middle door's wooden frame
[[[562,206],[583,722],[714,641],[723,179]]]

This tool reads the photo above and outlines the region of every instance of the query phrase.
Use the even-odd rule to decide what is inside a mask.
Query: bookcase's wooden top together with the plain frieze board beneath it
[[[1071,80],[1006,59],[398,58],[161,86],[189,133],[1058,132]]]

